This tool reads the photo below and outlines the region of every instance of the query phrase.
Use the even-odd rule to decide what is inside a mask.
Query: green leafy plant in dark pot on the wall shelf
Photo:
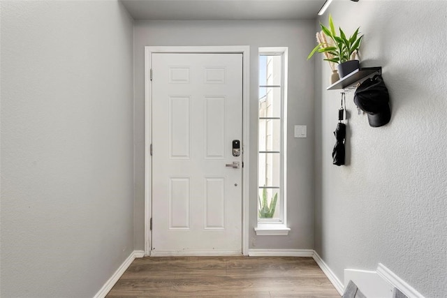
[[[340,77],[344,77],[358,69],[360,63],[355,57],[363,38],[363,36],[358,36],[360,27],[349,38],[346,37],[342,28],[339,28],[339,36],[337,36],[331,15],[329,15],[329,28],[321,23],[320,27],[323,31],[322,35],[330,38],[330,43],[325,40],[318,40],[318,45],[310,52],[307,59],[310,59],[316,52],[329,54],[329,57],[325,55],[326,58],[324,60],[338,64],[337,69]]]

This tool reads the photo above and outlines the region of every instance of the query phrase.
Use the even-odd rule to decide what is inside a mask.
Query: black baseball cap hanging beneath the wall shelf
[[[369,126],[384,126],[391,119],[390,96],[381,75],[374,75],[360,84],[354,103],[367,113]]]

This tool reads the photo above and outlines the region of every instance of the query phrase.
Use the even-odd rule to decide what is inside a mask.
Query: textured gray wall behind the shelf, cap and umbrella
[[[314,59],[315,248],[341,280],[381,262],[425,297],[447,297],[446,11],[446,1],[365,0],[328,11],[345,32],[360,26],[362,65],[383,66],[393,112],[372,128],[349,94],[349,165],[332,165],[340,95]]]

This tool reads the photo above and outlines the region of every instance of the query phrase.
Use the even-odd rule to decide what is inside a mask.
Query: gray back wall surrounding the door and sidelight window
[[[312,21],[137,21],[135,60],[135,249],[144,249],[146,45],[249,45],[250,61],[250,248],[313,248],[314,65],[306,61],[314,44]],[[288,226],[286,236],[256,237],[256,149],[258,47],[288,47]],[[307,125],[307,139],[293,138],[293,125]]]

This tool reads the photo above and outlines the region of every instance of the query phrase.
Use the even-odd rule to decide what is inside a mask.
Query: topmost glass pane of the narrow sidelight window
[[[281,85],[281,56],[259,57],[259,84],[262,86]]]

